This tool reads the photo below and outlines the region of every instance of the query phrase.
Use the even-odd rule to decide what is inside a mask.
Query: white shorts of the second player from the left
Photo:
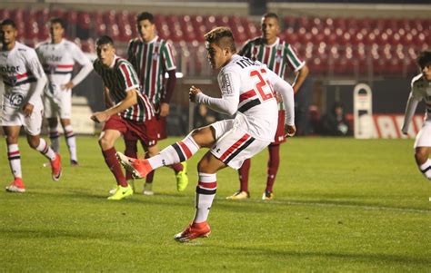
[[[72,94],[70,90],[55,93],[51,97],[44,95],[45,118],[70,119],[72,112]]]

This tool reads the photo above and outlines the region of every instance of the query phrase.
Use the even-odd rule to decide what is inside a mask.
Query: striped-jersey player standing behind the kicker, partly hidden
[[[281,41],[277,34],[280,32],[278,16],[268,13],[262,17],[262,36],[256,37],[246,42],[240,55],[246,56],[253,61],[265,63],[267,67],[281,78],[284,77],[286,66],[288,65],[296,73],[296,78],[292,87],[297,93],[308,74],[306,62],[302,61],[296,54],[296,50],[286,41]],[[285,107],[283,102],[278,103],[278,127],[276,138],[268,146],[269,159],[267,164],[266,189],[262,195],[262,200],[272,200],[274,198],[273,187],[276,181],[276,173],[280,164],[280,144],[286,141],[284,124],[285,124]],[[230,200],[244,200],[250,197],[248,191],[248,173],[250,171],[251,161],[246,160],[239,169],[240,189],[232,196],[227,197]]]

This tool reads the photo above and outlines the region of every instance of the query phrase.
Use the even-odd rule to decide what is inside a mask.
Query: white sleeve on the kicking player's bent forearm
[[[204,93],[196,94],[196,102],[205,104],[216,112],[233,115],[238,109],[239,96],[223,96],[222,98],[213,98]]]

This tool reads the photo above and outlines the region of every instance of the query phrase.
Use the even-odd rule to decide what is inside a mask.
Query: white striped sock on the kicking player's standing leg
[[[209,210],[216,197],[217,177],[216,173],[199,172],[199,182],[195,193],[195,223],[202,223],[208,219]]]

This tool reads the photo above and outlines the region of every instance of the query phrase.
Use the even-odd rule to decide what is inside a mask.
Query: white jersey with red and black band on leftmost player
[[[3,107],[21,108],[24,103],[31,102],[43,109],[41,93],[35,93],[35,83],[42,78],[45,78],[44,69],[33,48],[15,42],[11,51],[0,52]]]

